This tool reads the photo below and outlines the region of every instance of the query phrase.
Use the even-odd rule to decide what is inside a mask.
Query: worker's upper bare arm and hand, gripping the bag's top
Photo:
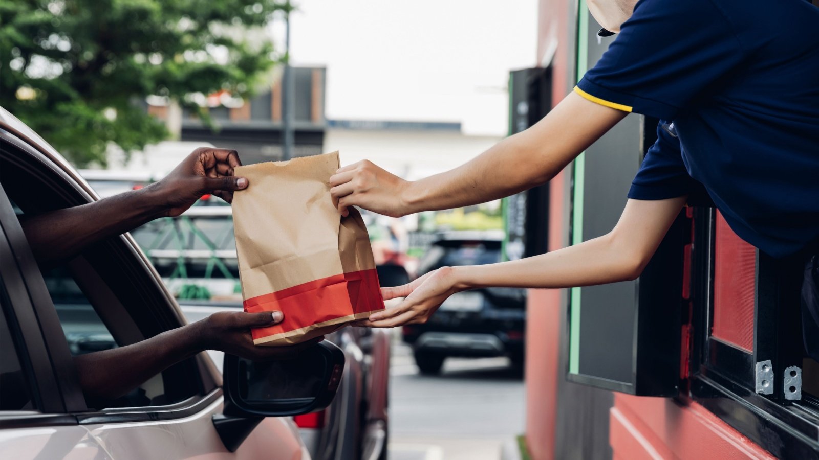
[[[339,169],[330,193],[342,214],[357,205],[393,217],[495,200],[546,183],[626,115],[572,92],[532,128],[458,168],[408,182],[365,160]]]

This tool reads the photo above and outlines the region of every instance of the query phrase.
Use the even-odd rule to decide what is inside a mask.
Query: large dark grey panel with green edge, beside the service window
[[[612,41],[598,39],[596,31],[589,28],[586,40],[579,43],[590,65],[600,59]],[[617,224],[631,180],[654,142],[656,125],[657,120],[627,115],[575,162],[573,244],[605,235]],[[676,395],[684,221],[682,216],[672,226],[636,281],[572,290],[569,381],[635,395]]]

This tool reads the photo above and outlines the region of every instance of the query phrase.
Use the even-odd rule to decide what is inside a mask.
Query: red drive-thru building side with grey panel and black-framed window
[[[598,29],[584,2],[541,2],[554,94],[613,41]],[[627,115],[553,182],[543,213],[562,235],[550,250],[614,227],[657,124]],[[540,359],[528,360],[527,395],[530,410],[541,408],[527,416],[532,457],[819,457],[819,363],[803,346],[802,279],[801,259],[762,253],[695,196],[637,280],[530,294],[527,353]],[[560,324],[554,343],[534,335],[555,329],[547,321]]]

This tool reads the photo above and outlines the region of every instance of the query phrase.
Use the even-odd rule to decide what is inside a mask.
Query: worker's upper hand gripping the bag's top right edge
[[[408,185],[408,181],[364,160],[336,171],[330,178],[330,195],[345,217],[347,206],[353,205],[401,217],[411,212],[403,196]]]

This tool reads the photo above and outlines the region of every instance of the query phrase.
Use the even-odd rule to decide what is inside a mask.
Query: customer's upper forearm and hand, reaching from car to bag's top
[[[182,214],[207,193],[230,202],[234,190],[247,187],[246,178],[233,177],[239,165],[236,151],[200,147],[157,183],[87,205],[24,214],[20,225],[38,263],[59,263],[94,242]]]

